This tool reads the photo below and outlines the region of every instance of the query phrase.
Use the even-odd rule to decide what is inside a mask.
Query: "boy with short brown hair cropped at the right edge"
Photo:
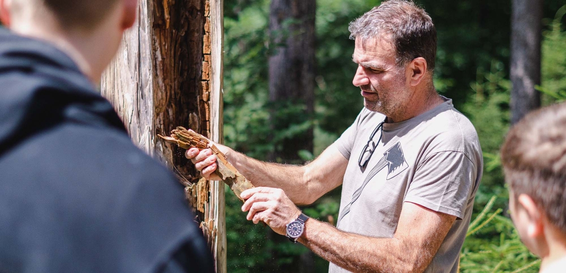
[[[566,104],[531,112],[501,148],[511,218],[541,272],[566,268]]]

